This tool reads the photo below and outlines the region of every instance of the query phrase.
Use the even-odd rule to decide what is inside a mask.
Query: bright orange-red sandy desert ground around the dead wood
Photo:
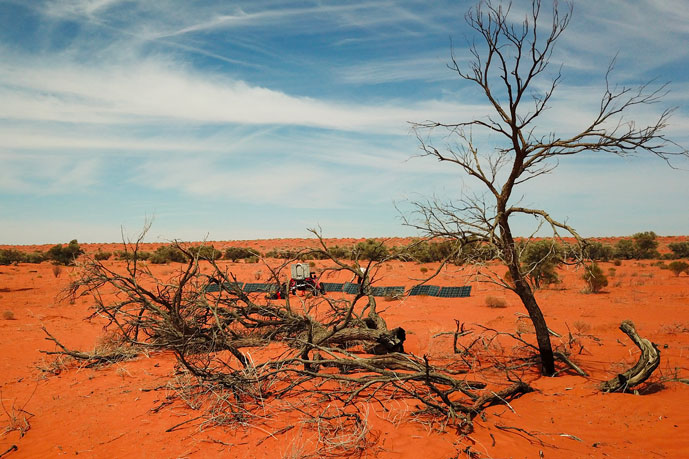
[[[663,244],[676,239],[664,239]],[[270,240],[242,243],[266,251],[272,247],[303,246],[305,240]],[[348,244],[354,240],[339,240]],[[239,243],[216,243],[223,248]],[[46,250],[22,247],[22,250]],[[106,250],[117,245],[94,244]],[[146,247],[150,250],[151,247]],[[120,262],[108,262],[120,263]],[[229,263],[229,269],[244,281],[254,281],[259,264]],[[323,266],[325,262],[317,262]],[[510,403],[486,410],[485,420],[476,418],[468,436],[453,429],[444,432],[416,422],[415,406],[400,403],[383,412],[369,411],[370,446],[362,457],[415,458],[467,457],[467,447],[480,457],[687,457],[689,456],[689,387],[680,382],[662,382],[661,377],[689,377],[689,276],[675,277],[651,261],[625,261],[615,268],[610,285],[601,294],[584,294],[581,271],[565,268],[563,282],[540,290],[537,299],[551,329],[579,336],[584,351],[574,360],[590,376],[540,377],[530,373],[535,392]],[[154,272],[169,275],[177,265],[154,266]],[[423,276],[421,268],[433,264],[391,262],[382,270],[380,285],[413,285]],[[0,266],[0,455],[12,445],[16,451],[4,458],[58,456],[86,457],[307,457],[314,448],[313,436],[300,428],[276,433],[293,420],[276,420],[270,430],[223,427],[199,428],[188,423],[198,416],[180,404],[165,405],[164,386],[174,373],[174,358],[151,354],[100,368],[71,364],[57,375],[48,367],[53,358],[39,350],[55,350],[45,340],[45,326],[70,348],[91,350],[103,334],[101,323],[85,321],[88,300],[75,304],[58,302],[56,296],[76,276],[75,268],[63,268],[59,277],[48,263]],[[265,277],[265,268],[261,270]],[[263,279],[266,280],[266,279]],[[409,297],[381,301],[382,314],[390,326],[408,331],[405,348],[416,355],[452,354],[451,340],[434,338],[454,331],[454,319],[480,323],[514,332],[524,329],[523,307],[508,293],[488,284],[475,283],[459,267],[443,270],[439,285],[473,287],[470,298],[442,299]],[[485,306],[487,296],[507,301],[507,308]],[[633,365],[639,350],[618,330],[631,319],[639,333],[655,342],[662,353],[653,376],[654,390],[644,395],[602,394],[597,385]],[[471,327],[469,327],[471,328]],[[532,338],[533,335],[525,335]],[[564,340],[565,338],[563,338]],[[554,339],[554,345],[560,340]],[[23,411],[21,411],[23,410]],[[30,415],[28,414],[30,413]],[[13,419],[28,417],[29,430],[7,431]],[[290,424],[291,425],[291,424]],[[496,426],[517,427],[499,429]],[[271,435],[275,433],[275,435]],[[314,457],[314,456],[312,456]],[[315,455],[318,457],[318,454]]]

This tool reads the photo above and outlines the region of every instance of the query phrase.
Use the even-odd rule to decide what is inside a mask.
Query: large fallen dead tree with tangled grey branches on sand
[[[221,397],[232,400],[225,415],[237,419],[255,416],[267,401],[290,397],[325,400],[342,409],[402,397],[470,429],[472,419],[487,406],[531,390],[511,378],[488,387],[481,378],[470,378],[470,364],[450,369],[447,362],[434,364],[427,356],[405,353],[405,330],[388,326],[371,294],[385,259],[364,263],[355,255],[341,260],[314,234],[321,245],[308,251],[330,260],[326,271],[360,276],[353,297],[307,295],[273,301],[247,294],[214,259],[203,259],[202,251],[180,244],[177,248],[188,262],[171,277],[159,279],[138,259],[138,243],[128,247],[123,269],[85,259],[69,293],[91,297],[94,316],[104,317],[106,328],[121,341],[136,349],[172,351],[195,378],[196,390],[230,394]],[[269,267],[276,282],[288,264]],[[93,364],[118,360],[112,353],[68,349],[50,334],[47,339],[58,346],[51,353]]]

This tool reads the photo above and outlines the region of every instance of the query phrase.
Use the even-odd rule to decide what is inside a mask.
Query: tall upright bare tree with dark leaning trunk
[[[532,0],[521,23],[510,17],[509,3],[480,2],[466,15],[479,38],[479,44],[470,47],[472,59],[465,65],[453,51],[449,68],[460,80],[475,85],[492,114],[459,122],[413,123],[423,156],[459,166],[485,193],[449,203],[414,203],[418,215],[407,223],[430,236],[459,240],[466,247],[489,247],[507,266],[510,281],[497,274],[489,280],[519,296],[536,330],[542,372],[546,375],[555,373],[548,327],[529,285],[528,273],[520,266],[520,249],[511,221],[519,215],[532,216],[540,222],[538,229],[551,228],[554,238],[573,236],[583,241],[572,226],[545,210],[519,205],[515,191],[524,182],[551,172],[559,158],[585,151],[620,156],[647,152],[666,161],[675,155],[687,156],[687,150],[663,134],[672,110],[663,111],[649,125],[638,126],[623,119],[630,109],[659,101],[666,93],[665,86],[611,87],[612,64],[605,75],[600,106],[588,124],[569,137],[538,132],[539,117],[560,82],[559,71],[548,70],[555,44],[567,28],[571,13],[571,7],[563,11],[554,2],[552,19],[544,30],[540,0]],[[434,137],[437,134],[442,137]],[[487,148],[483,140],[489,138],[498,144]],[[447,147],[435,146],[441,139]]]

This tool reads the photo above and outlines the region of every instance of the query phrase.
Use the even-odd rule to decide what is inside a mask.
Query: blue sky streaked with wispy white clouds
[[[0,243],[116,242],[151,217],[151,241],[414,234],[397,208],[478,190],[415,157],[408,124],[489,112],[446,67],[473,4],[0,0]],[[585,126],[617,55],[613,82],[670,82],[634,119],[677,107],[689,146],[688,42],[685,0],[576,1],[539,128]],[[688,234],[676,166],[585,153],[518,197],[585,236]]]

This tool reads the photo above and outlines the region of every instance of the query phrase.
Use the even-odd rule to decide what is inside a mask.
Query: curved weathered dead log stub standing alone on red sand
[[[631,320],[625,320],[620,325],[622,330],[641,349],[639,361],[629,370],[621,373],[600,385],[603,392],[627,392],[632,387],[646,381],[651,373],[660,365],[660,351],[651,341],[642,338],[636,332]]]

